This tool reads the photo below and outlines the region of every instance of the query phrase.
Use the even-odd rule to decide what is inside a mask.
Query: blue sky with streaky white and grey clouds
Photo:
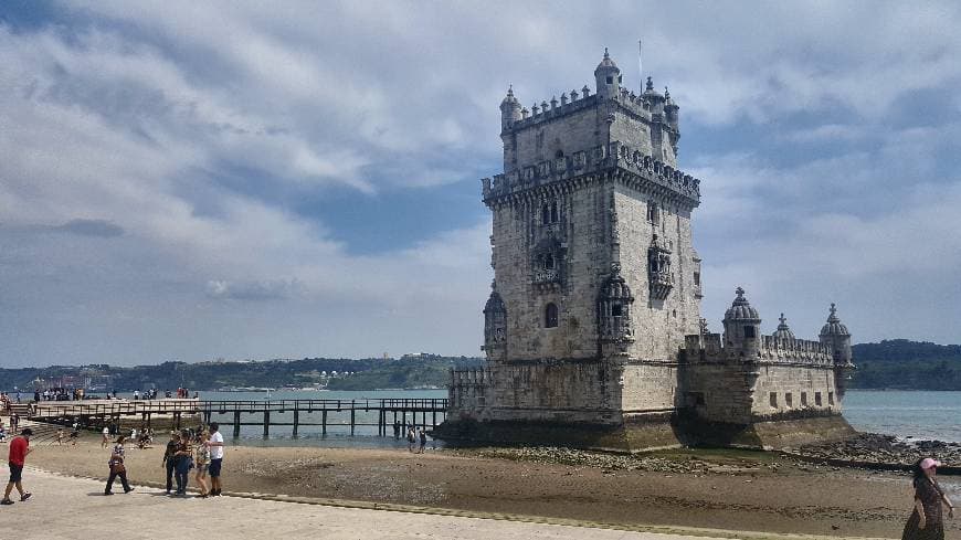
[[[508,83],[680,105],[711,328],[959,342],[957,2],[0,4],[0,366],[479,354]]]

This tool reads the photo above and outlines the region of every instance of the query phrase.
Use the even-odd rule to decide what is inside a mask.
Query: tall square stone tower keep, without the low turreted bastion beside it
[[[455,374],[476,405],[467,416],[487,426],[663,420],[678,350],[699,328],[700,193],[676,169],[677,107],[653,86],[624,88],[606,51],[594,80],[593,93],[530,109],[513,88],[500,104],[504,173],[483,181],[488,364]]]

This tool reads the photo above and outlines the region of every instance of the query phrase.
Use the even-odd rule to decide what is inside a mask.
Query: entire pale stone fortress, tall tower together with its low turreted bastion
[[[613,59],[560,99],[500,104],[504,172],[483,180],[495,280],[486,366],[454,370],[441,437],[636,451],[781,447],[853,434],[851,336],[834,305],[819,340],[773,335],[743,289],[722,333],[700,316],[678,109]]]

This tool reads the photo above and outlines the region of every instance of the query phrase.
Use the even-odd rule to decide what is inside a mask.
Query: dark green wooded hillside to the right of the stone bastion
[[[907,339],[852,347],[851,388],[961,390],[961,346]]]

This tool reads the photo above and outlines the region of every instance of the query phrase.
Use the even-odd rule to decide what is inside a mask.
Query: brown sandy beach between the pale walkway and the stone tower
[[[133,484],[163,481],[165,442],[128,451]],[[81,476],[107,474],[109,451],[92,435],[77,446],[34,446],[33,466]],[[223,478],[228,491],[834,536],[899,538],[911,508],[904,475],[732,451],[642,458],[601,454],[578,464],[549,463],[542,453],[483,448],[415,455],[405,449],[231,446]],[[943,483],[958,493],[958,480],[946,477]],[[959,531],[961,521],[950,521],[949,538]]]

